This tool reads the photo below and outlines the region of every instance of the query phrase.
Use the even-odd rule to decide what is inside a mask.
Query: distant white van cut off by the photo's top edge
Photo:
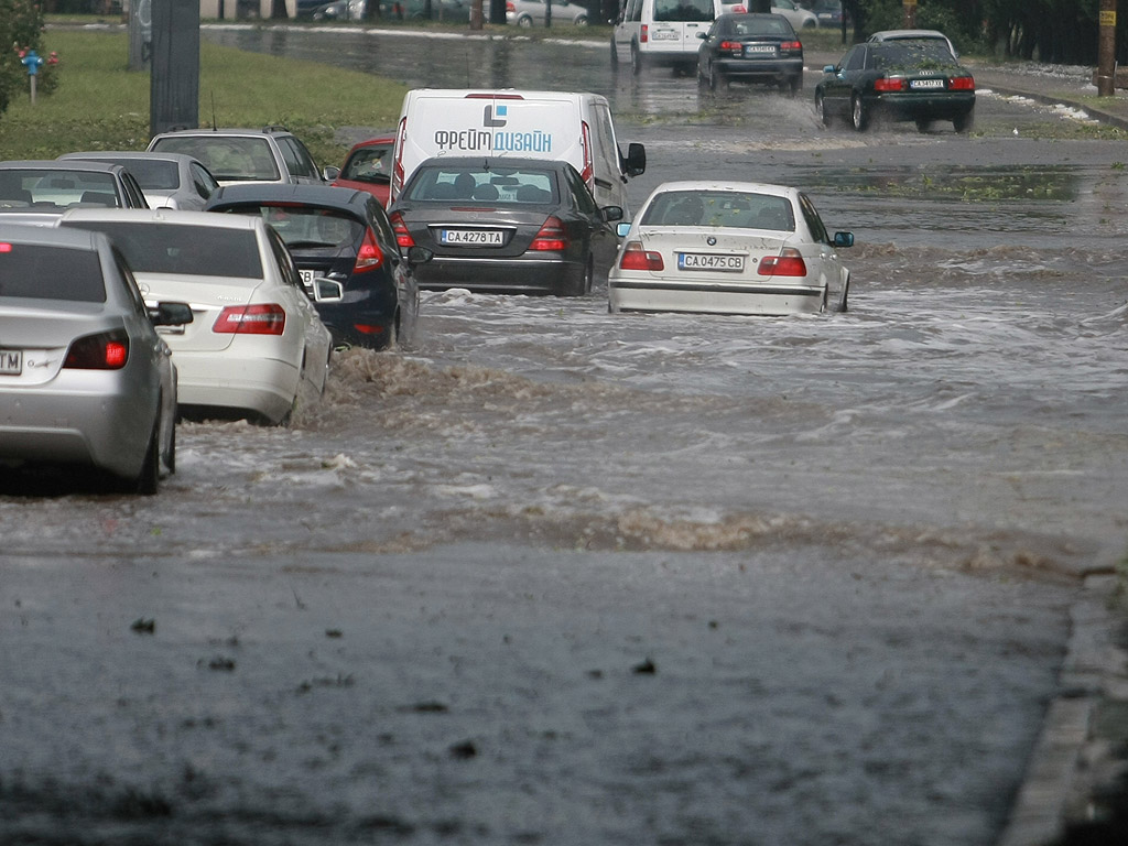
[[[721,14],[721,0],[626,0],[611,35],[611,64],[629,63],[634,73],[649,65],[696,73],[697,34]]]

